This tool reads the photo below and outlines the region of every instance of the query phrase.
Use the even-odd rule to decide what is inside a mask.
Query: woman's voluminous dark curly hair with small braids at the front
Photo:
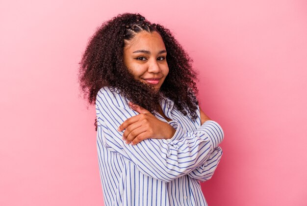
[[[124,64],[124,47],[140,31],[158,32],[167,51],[169,73],[159,92],[135,80]],[[192,120],[197,118],[197,72],[192,69],[192,59],[169,29],[151,24],[140,14],[120,14],[98,27],[79,64],[80,89],[90,104],[95,104],[96,95],[103,86],[109,86],[152,113],[157,111],[163,94],[174,101],[174,106],[183,115],[189,111]],[[95,126],[97,130],[97,119]]]

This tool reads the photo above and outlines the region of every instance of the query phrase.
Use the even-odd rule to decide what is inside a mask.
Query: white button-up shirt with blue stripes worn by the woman
[[[218,145],[224,132],[215,121],[201,125],[199,107],[193,121],[167,97],[160,105],[172,120],[174,136],[130,145],[117,128],[138,113],[110,88],[98,92],[97,150],[105,206],[207,206],[200,181],[212,177],[221,159]],[[158,112],[154,115],[167,122]]]

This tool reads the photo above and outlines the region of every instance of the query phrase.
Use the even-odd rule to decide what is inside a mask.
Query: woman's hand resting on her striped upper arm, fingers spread
[[[170,139],[174,136],[176,130],[168,123],[158,120],[153,114],[133,103],[129,106],[139,114],[128,118],[123,122],[118,131],[124,129],[123,140],[127,144],[136,145],[144,139]]]

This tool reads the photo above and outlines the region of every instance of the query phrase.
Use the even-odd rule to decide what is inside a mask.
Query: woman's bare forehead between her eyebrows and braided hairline
[[[156,31],[153,31],[152,33],[141,31],[135,34],[131,40],[126,42],[124,50],[127,52],[132,50],[161,51],[165,50],[165,45],[162,37]]]

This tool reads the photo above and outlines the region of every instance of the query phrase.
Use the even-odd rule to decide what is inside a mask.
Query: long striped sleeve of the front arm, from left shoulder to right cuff
[[[214,121],[206,121],[195,131],[186,132],[174,120],[169,122],[177,129],[171,139],[146,139],[130,145],[122,140],[124,131],[117,129],[138,113],[130,109],[124,98],[103,87],[97,94],[96,111],[98,141],[133,162],[141,173],[165,182],[203,165],[224,138],[223,130]]]

